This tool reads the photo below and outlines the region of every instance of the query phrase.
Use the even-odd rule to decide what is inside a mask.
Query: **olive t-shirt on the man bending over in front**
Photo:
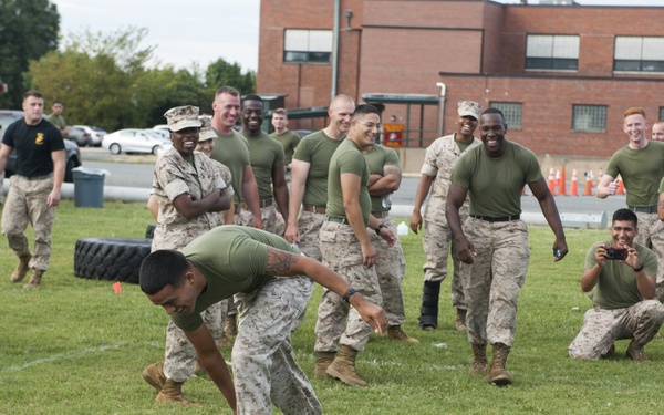
[[[203,272],[207,288],[196,299],[193,314],[170,314],[175,325],[194,331],[203,324],[200,312],[208,307],[272,280],[268,274],[268,247],[292,250],[281,237],[236,225],[216,227],[183,248],[187,260]]]

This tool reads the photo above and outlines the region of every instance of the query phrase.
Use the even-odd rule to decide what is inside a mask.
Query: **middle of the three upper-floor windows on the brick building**
[[[526,69],[579,69],[579,37],[568,34],[529,34],[526,41]]]

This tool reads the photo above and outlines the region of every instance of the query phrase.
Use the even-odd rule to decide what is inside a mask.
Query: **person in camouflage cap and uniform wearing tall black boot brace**
[[[422,230],[422,204],[430,190],[430,197],[424,210],[424,237],[422,245],[426,252],[424,269],[424,289],[419,314],[419,328],[434,330],[438,326],[438,300],[440,283],[447,277],[447,257],[452,234],[445,216],[445,203],[449,189],[449,176],[456,160],[468,148],[480,144],[473,133],[477,129],[481,106],[474,101],[459,101],[456,132],[440,137],[427,147],[422,165],[422,178],[415,205],[411,216],[411,229],[415,234]],[[432,190],[433,185],[433,190]],[[460,210],[461,222],[468,216],[468,198]],[[454,248],[454,241],[453,241]],[[459,331],[466,330],[466,300],[459,278],[459,260],[453,259],[454,274],[452,278],[452,307],[457,311],[455,326]]]

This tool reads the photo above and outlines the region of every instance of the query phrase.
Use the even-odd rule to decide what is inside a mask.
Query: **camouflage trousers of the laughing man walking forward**
[[[461,262],[460,269],[468,340],[511,347],[517,299],[530,260],[528,227],[522,220],[488,222],[468,217],[464,234],[477,253],[473,263]]]

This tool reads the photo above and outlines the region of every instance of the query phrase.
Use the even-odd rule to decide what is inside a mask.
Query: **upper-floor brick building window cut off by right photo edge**
[[[664,38],[615,37],[613,70],[664,72]]]

